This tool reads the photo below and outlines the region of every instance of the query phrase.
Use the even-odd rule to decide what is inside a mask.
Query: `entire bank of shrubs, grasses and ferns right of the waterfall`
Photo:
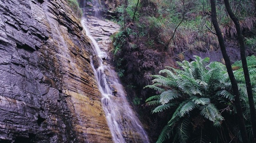
[[[177,89],[176,91],[180,93],[181,89],[178,87],[175,88],[170,85],[156,86],[164,89],[164,91],[157,90],[159,96],[155,97],[150,97],[155,92],[154,88],[143,88],[146,85],[151,86],[152,82],[154,82],[153,84],[158,83],[155,79],[152,81],[152,77],[158,76],[156,74],[160,70],[161,72],[166,72],[162,73],[162,77],[165,78],[167,78],[166,76],[170,76],[168,75],[169,71],[173,72],[175,76],[178,76],[182,72],[189,72],[180,66],[182,64],[189,65],[193,60],[190,58],[192,55],[202,54],[202,58],[209,55],[211,56],[211,61],[221,60],[221,58],[214,58],[218,57],[216,56],[217,54],[220,54],[220,47],[211,22],[210,1],[140,0],[138,8],[136,8],[138,0],[129,0],[126,2],[128,2],[126,8],[125,6],[118,8],[118,12],[120,13],[118,23],[121,29],[120,32],[112,36],[112,54],[118,75],[120,75],[124,85],[127,85],[126,91],[131,92],[131,97],[129,98],[134,102],[135,107],[140,110],[138,112],[150,115],[150,117],[145,117],[144,120],[150,126],[151,135],[158,136],[160,134],[158,130],[162,130],[159,138],[160,142],[164,141],[161,140],[161,137],[163,137],[162,139],[170,138],[166,142],[241,142],[241,136],[237,126],[234,96],[232,95],[232,88],[226,68],[222,64],[217,62],[209,64],[209,61],[204,59],[206,60],[204,64],[207,64],[203,65],[204,67],[200,69],[202,70],[200,72],[203,72],[201,74],[203,74],[202,76],[204,77],[202,78],[204,79],[196,77],[197,75],[190,74],[188,76],[184,73],[188,76],[186,77],[188,78],[187,80],[191,80],[189,86],[194,86],[190,90],[194,91],[184,91],[181,96],[170,99],[169,101],[172,103],[168,102],[163,105],[159,101],[160,94],[167,94],[165,91],[174,91],[174,89]],[[224,3],[220,0],[216,2],[218,24],[220,25],[226,47],[230,50],[230,53],[237,53],[239,50],[236,41],[237,33],[235,25],[226,12]],[[256,3],[254,0],[232,0],[230,1],[230,5],[239,19],[242,34],[246,37],[244,42],[246,44],[246,50],[249,52],[248,55],[255,55]],[[233,48],[234,51],[232,51]],[[237,55],[229,56],[232,58],[232,61],[237,60],[234,58]],[[176,61],[181,62],[185,59],[190,62],[182,62],[179,63],[180,65],[176,64]],[[200,58],[197,57],[193,63],[199,61]],[[256,79],[254,73],[256,68],[254,66],[255,64],[250,64],[255,61],[255,56],[248,57],[247,61],[252,85],[255,90]],[[169,71],[167,72],[167,69],[162,70],[165,66],[171,66],[172,68],[168,68]],[[196,65],[192,64],[187,68],[192,70],[191,68],[193,66]],[[245,96],[246,89],[242,63],[236,62],[232,67],[241,92],[244,117],[246,125],[248,125],[246,129],[250,133],[250,139],[252,139],[252,132],[249,132],[251,129],[249,105],[248,98]],[[178,70],[179,68],[182,70]],[[195,69],[197,68],[194,67]],[[214,80],[208,80],[207,75],[205,75],[208,72],[207,70],[210,69],[214,72],[212,75],[214,77],[211,77]],[[223,73],[218,75],[220,74],[218,70],[221,70],[219,72]],[[180,77],[179,80],[181,78],[184,78],[184,81],[177,81],[177,83],[185,82],[185,77]],[[199,82],[199,79],[202,83],[200,83],[201,81]],[[188,82],[186,83],[188,84]],[[186,87],[189,89],[188,86]],[[192,97],[198,97],[200,102]],[[204,99],[201,101],[201,98]],[[147,103],[143,103],[146,99]],[[158,108],[153,110],[153,112],[157,113],[150,114],[147,105],[157,106]],[[179,105],[180,108],[178,108]],[[192,108],[182,108],[182,105]],[[211,109],[211,116],[207,115],[206,112],[203,113],[203,111],[206,111],[204,109]],[[173,121],[169,122],[175,111],[177,111],[175,120],[173,119]],[[233,119],[234,121],[232,121]],[[164,127],[163,123],[168,125]],[[171,123],[173,124],[170,125]],[[186,126],[188,127],[187,129],[183,130],[181,128]],[[215,132],[216,134],[212,134]],[[179,135],[179,133],[181,134]],[[200,137],[202,137],[202,140],[198,140]],[[156,139],[153,138],[152,140],[154,141]]]

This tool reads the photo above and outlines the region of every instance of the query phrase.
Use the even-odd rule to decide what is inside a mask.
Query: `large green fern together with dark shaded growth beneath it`
[[[252,57],[252,58],[255,58]],[[236,121],[234,95],[226,68],[220,62],[195,56],[195,61],[177,62],[181,69],[167,67],[153,75],[152,85],[158,95],[149,97],[152,113],[170,115],[158,143],[170,139],[176,143],[237,143],[241,142]],[[256,97],[256,63],[250,67],[254,97]],[[234,71],[239,84],[244,117],[250,130],[246,85],[241,70]],[[255,98],[254,98],[255,99]],[[252,132],[250,131],[250,139]]]

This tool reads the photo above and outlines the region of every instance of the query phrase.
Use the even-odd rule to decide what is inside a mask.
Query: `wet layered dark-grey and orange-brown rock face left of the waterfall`
[[[92,47],[65,0],[0,1],[0,142],[111,143]]]

